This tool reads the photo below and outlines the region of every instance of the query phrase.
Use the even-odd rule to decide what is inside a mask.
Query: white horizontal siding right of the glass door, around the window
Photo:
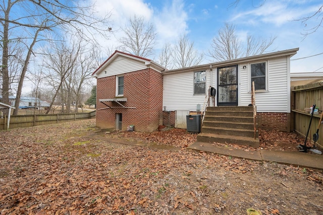
[[[290,84],[288,79],[287,57],[267,61],[267,91],[256,92],[257,112],[290,112]],[[252,63],[252,62],[250,62]],[[251,78],[248,68],[240,66],[240,104],[246,106],[251,103]]]

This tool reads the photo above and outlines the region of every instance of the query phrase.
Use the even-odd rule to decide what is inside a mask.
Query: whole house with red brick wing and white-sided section
[[[298,48],[167,70],[150,59],[115,51],[92,74],[97,80],[96,125],[152,131],[198,112],[208,86],[214,106],[248,106],[255,83],[260,127],[289,131],[290,57]]]

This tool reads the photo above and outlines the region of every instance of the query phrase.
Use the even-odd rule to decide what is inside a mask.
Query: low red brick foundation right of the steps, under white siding
[[[257,123],[260,128],[270,128],[288,131],[288,113],[257,113]]]

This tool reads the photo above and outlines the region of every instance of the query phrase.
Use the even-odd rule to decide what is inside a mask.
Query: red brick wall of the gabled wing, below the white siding
[[[120,102],[132,108],[105,108],[99,99],[116,97],[116,76],[97,79],[96,126],[116,129],[116,114],[122,114],[122,130],[135,125],[135,130],[150,132],[158,128],[163,117],[163,77],[157,71],[147,68],[124,74],[124,98]],[[104,102],[109,106],[119,106],[116,102]]]

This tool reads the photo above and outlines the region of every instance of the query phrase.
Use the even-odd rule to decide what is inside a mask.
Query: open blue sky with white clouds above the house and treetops
[[[262,39],[277,37],[267,52],[299,48],[291,58],[291,73],[323,72],[323,27],[306,37],[302,35],[319,24],[323,12],[306,24],[297,21],[313,15],[323,5],[321,0],[240,0],[239,4],[233,5],[234,2],[93,0],[99,14],[111,13],[113,33],[109,40],[101,39],[106,49],[117,49],[117,38],[123,36],[120,29],[134,15],[142,16],[155,27],[155,54],[149,56],[154,61],[165,42],[175,43],[183,34],[194,42],[195,49],[207,53],[219,29],[229,23],[236,26],[241,41],[245,41],[247,35]],[[205,58],[202,64],[214,61],[207,56]]]

